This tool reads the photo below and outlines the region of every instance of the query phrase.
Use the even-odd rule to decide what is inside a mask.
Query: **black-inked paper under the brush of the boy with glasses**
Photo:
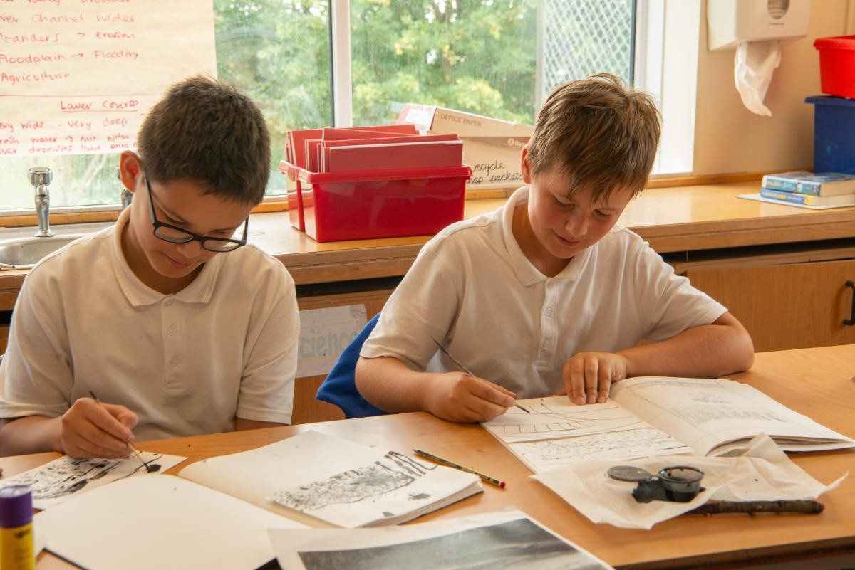
[[[156,476],[173,468],[186,457],[140,451],[143,461],[159,465],[156,472],[148,473],[134,456],[124,459],[73,459],[59,457],[37,468],[0,481],[0,487],[29,485],[32,487],[32,506],[48,509],[68,498],[128,477]]]

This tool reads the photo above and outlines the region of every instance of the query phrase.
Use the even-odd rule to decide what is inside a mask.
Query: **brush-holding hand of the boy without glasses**
[[[516,403],[504,387],[463,372],[433,375],[424,400],[425,410],[450,422],[486,422]]]

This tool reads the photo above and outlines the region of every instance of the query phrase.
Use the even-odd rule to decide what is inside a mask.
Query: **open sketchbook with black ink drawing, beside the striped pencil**
[[[349,528],[409,521],[483,490],[476,475],[313,431],[193,463],[180,476]]]

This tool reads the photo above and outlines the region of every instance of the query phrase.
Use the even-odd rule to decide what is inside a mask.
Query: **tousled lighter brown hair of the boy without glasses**
[[[571,191],[593,198],[615,189],[644,188],[659,143],[659,111],[652,96],[599,73],[570,81],[546,98],[528,141],[533,176],[558,168]]]

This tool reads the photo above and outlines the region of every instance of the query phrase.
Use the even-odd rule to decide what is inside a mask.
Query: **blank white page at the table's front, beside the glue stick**
[[[87,570],[254,570],[274,559],[268,529],[304,528],[173,475],[116,481],[33,526],[47,550]]]

